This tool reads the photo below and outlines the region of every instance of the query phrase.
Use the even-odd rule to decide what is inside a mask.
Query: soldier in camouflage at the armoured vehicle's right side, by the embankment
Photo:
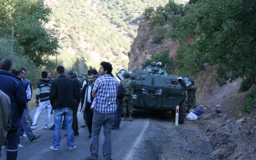
[[[187,87],[187,108],[196,109],[196,90],[197,87],[194,86],[194,81]]]

